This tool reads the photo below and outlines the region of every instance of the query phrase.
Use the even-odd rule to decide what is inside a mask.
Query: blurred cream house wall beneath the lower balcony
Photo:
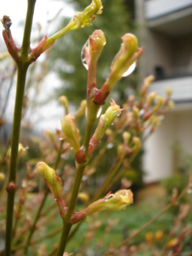
[[[145,143],[143,169],[145,182],[155,182],[173,172],[173,144],[179,143],[192,155],[192,110],[166,115],[159,129]]]

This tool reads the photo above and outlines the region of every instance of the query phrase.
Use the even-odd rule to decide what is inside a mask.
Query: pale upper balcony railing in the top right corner
[[[147,0],[145,1],[145,18],[156,19],[192,6],[191,0]]]

